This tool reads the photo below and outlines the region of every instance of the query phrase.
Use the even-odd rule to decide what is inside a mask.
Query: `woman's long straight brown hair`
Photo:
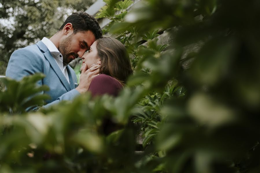
[[[125,46],[112,37],[103,36],[97,39],[97,55],[101,59],[100,74],[112,76],[124,85],[133,73]]]

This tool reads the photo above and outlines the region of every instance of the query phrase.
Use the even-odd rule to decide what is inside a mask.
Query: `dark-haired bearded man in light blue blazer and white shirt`
[[[90,72],[85,67],[78,86],[76,74],[68,63],[82,57],[100,37],[102,31],[93,16],[85,12],[73,13],[50,39],[44,37],[32,46],[14,51],[5,75],[21,80],[24,76],[35,73],[45,74],[46,77],[38,82],[50,88],[45,93],[49,94],[51,99],[46,101],[47,105],[44,107],[61,100],[71,100],[88,90],[92,78],[98,75],[99,71]]]

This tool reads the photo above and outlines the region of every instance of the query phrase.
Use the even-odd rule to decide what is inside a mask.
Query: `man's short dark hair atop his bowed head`
[[[73,33],[77,33],[78,31],[92,31],[96,39],[102,37],[102,30],[97,20],[86,12],[72,13],[62,24],[59,31],[61,31],[67,23],[72,24]]]

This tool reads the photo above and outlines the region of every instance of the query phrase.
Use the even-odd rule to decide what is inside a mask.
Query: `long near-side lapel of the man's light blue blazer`
[[[56,63],[55,59],[52,57],[52,55],[51,55],[50,51],[48,50],[48,48],[45,46],[45,44],[42,41],[39,41],[38,43],[36,43],[36,45],[40,48],[41,52],[43,52],[45,58],[49,61],[52,69],[57,74],[57,76],[59,77],[61,83],[66,88],[66,90],[70,91],[71,87],[69,85],[69,82],[67,81],[66,77],[64,76],[64,74],[60,70],[60,67]]]

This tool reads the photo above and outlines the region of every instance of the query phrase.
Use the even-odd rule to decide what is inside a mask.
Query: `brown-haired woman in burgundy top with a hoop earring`
[[[103,36],[96,40],[82,56],[82,60],[80,70],[83,64],[91,71],[99,68],[100,75],[92,80],[88,89],[93,97],[103,94],[117,96],[133,73],[125,46],[111,37]]]

